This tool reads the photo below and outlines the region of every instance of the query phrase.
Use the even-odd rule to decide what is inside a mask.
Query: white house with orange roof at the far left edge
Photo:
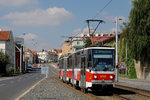
[[[9,56],[10,66],[14,66],[15,44],[12,31],[0,31],[0,50]]]

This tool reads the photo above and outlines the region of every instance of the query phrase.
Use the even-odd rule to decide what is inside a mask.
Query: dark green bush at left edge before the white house
[[[9,63],[9,56],[0,51],[0,73],[6,73],[6,65]]]

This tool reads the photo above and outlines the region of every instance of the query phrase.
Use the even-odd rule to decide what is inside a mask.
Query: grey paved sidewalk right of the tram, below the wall
[[[119,77],[119,82],[116,84],[150,91],[150,80]]]

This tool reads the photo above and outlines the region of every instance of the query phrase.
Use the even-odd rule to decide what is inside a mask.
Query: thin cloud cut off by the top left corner
[[[37,4],[37,0],[0,0],[0,6],[19,7],[24,5]]]

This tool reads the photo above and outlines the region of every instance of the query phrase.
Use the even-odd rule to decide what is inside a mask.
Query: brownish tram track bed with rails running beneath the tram
[[[120,86],[120,85],[116,85],[112,91],[108,91],[106,93],[103,92],[94,93],[92,91],[89,91],[88,93],[84,93],[82,89],[77,88],[72,84],[67,84],[63,82],[55,75],[56,73],[54,74],[54,76],[51,77],[53,80],[57,81],[58,83],[68,88],[71,88],[73,91],[88,98],[88,100],[149,100],[150,98],[150,92],[148,91],[145,90],[139,91],[139,89],[134,89],[130,87],[127,88],[125,86]]]

